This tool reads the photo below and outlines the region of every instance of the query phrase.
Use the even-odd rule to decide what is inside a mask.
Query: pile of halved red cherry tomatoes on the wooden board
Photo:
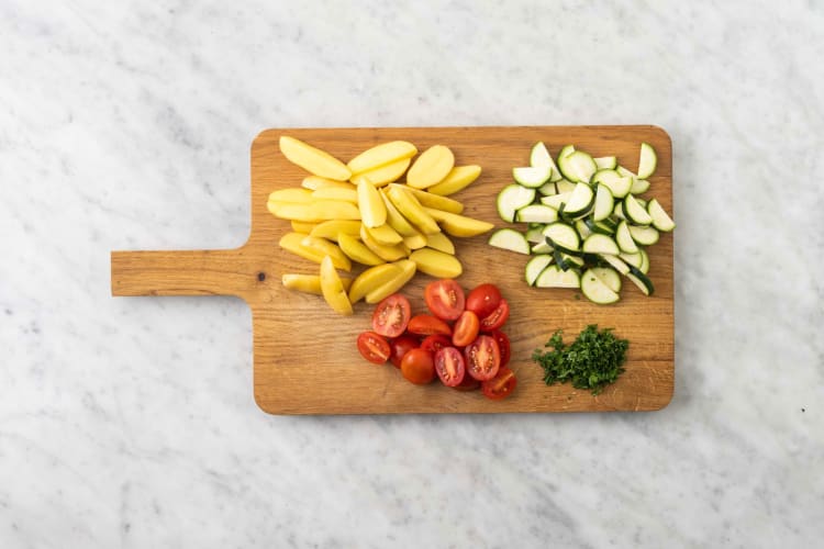
[[[494,284],[481,284],[468,295],[455,280],[430,282],[424,291],[432,314],[412,316],[412,306],[396,293],[378,304],[372,329],[358,336],[357,347],[376,365],[391,361],[416,384],[438,378],[458,391],[481,392],[500,400],[517,380],[506,368],[510,340],[500,330],[510,306]]]

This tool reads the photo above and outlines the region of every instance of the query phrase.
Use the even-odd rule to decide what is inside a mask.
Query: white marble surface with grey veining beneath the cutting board
[[[3,0],[0,547],[819,545],[823,38],[815,0]],[[261,128],[588,123],[672,136],[661,412],[268,416],[242,302],[110,296],[111,249],[245,240]]]

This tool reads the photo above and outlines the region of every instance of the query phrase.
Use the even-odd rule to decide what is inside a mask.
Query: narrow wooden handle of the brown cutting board
[[[112,295],[243,296],[265,273],[243,248],[112,251]]]

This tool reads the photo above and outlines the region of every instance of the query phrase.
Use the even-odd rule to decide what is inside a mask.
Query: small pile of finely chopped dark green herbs
[[[614,383],[624,371],[630,341],[616,338],[612,329],[599,332],[597,324],[590,324],[569,346],[564,345],[563,330],[553,334],[545,347],[554,350],[536,349],[532,354],[532,359],[544,369],[546,384],[571,381],[576,389],[600,394],[604,386]]]

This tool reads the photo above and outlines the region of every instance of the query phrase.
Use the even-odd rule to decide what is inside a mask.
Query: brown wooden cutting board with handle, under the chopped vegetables
[[[672,235],[652,246],[647,298],[628,280],[622,300],[599,306],[574,290],[534,289],[523,279],[526,256],[492,248],[488,235],[454,238],[464,264],[458,279],[465,289],[493,282],[511,304],[504,332],[512,340],[511,368],[516,391],[490,401],[479,391],[463,393],[435,382],[407,382],[391,365],[374,366],[358,354],[355,339],[370,327],[372,306],[355,306],[338,316],[323,299],[286,290],[285,272],[318,273],[318,265],[281,250],[277,243],[290,231],[287,221],[266,209],[275,189],[299,187],[307,173],[281,155],[281,134],[303,139],[344,161],[376,144],[405,139],[425,150],[435,144],[455,153],[456,165],[478,164],[483,171],[454,198],[465,214],[506,226],[495,213],[498,191],[512,182],[513,166],[528,165],[530,148],[546,143],[553,155],[575,144],[593,156],[616,155],[635,170],[638,147],[650,143],[658,168],[646,193],[672,212],[672,154],[669,136],[656,126],[394,127],[267,130],[252,144],[252,234],[237,249],[187,251],[113,251],[114,295],[236,295],[252,307],[254,324],[254,395],[272,414],[396,414],[498,412],[652,411],[666,406],[673,391]],[[215,220],[220,223],[220,220]],[[360,268],[355,268],[353,274]],[[423,289],[433,280],[417,273],[403,289],[413,311],[425,312]],[[626,372],[599,396],[569,384],[547,386],[531,360],[558,328],[571,340],[588,324],[614,327],[628,338]]]

